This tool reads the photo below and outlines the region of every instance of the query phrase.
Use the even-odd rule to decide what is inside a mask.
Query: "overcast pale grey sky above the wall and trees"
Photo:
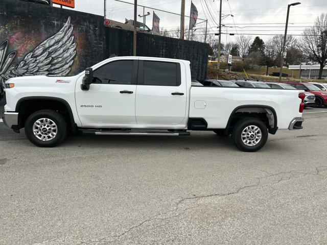
[[[133,3],[133,0],[123,0]],[[103,15],[103,0],[75,0],[77,11],[88,12]],[[234,17],[228,16],[223,19],[223,33],[236,34],[257,34],[264,40],[271,36],[262,34],[284,34],[287,5],[296,1],[285,0],[223,0],[222,14],[232,13]],[[300,0],[301,4],[291,7],[289,18],[288,34],[301,34],[302,31],[313,24],[314,20],[321,13],[327,14],[327,0]],[[198,18],[208,19],[208,33],[218,32],[219,19],[219,0],[193,0],[198,9]],[[166,10],[174,13],[180,13],[181,0],[138,0],[138,5],[145,5],[156,9]],[[185,15],[190,15],[191,0],[185,0]],[[147,16],[146,24],[152,28],[152,11]],[[179,26],[180,16],[154,10],[160,18],[160,28],[171,30]],[[143,14],[143,8],[138,7],[138,13]],[[133,18],[133,5],[121,3],[115,0],[107,0],[107,18],[123,22],[125,18]],[[143,21],[138,17],[138,21]],[[198,19],[198,23],[201,20]],[[235,25],[234,25],[235,23]],[[268,24],[270,23],[270,24]],[[185,18],[185,26],[188,26],[189,19]],[[196,33],[201,34],[204,31],[205,23],[197,24]],[[203,28],[203,29],[202,29]],[[261,35],[260,35],[261,34]],[[253,38],[256,35],[253,35]],[[222,42],[233,41],[236,36],[222,36]]]

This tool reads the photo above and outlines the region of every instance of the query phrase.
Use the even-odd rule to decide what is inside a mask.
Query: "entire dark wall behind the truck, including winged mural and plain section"
[[[130,31],[105,28],[102,16],[19,0],[0,1],[3,78],[75,75],[112,54],[132,55],[132,40]],[[192,77],[205,78],[207,44],[145,33],[138,33],[137,41],[138,56],[190,60]]]

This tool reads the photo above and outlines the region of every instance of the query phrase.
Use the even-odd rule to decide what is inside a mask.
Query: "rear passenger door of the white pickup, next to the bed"
[[[186,115],[186,97],[180,63],[139,60],[135,100],[138,125],[180,125]]]

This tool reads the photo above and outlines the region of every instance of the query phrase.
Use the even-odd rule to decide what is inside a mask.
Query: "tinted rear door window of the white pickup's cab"
[[[144,85],[179,86],[177,63],[144,61]]]

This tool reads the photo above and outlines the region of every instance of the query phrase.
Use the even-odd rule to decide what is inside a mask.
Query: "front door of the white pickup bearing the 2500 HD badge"
[[[81,90],[76,83],[76,107],[85,126],[136,124],[135,94],[137,60],[117,60],[94,69],[93,83]]]

